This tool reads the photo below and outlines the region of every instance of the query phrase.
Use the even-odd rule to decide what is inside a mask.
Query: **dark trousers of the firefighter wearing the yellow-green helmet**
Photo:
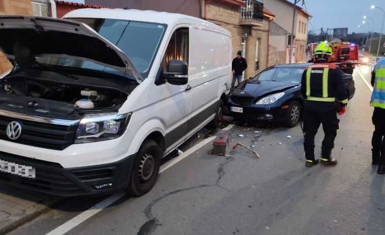
[[[321,158],[330,159],[334,140],[339,130],[339,119],[335,109],[316,112],[305,109],[304,113],[304,150],[306,160],[314,160],[314,137],[320,124],[324,132],[324,138],[321,147]]]

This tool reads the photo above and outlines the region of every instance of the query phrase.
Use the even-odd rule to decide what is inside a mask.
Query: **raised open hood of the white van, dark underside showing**
[[[0,50],[19,66],[36,56],[90,60],[143,79],[128,56],[80,22],[34,16],[0,16]]]

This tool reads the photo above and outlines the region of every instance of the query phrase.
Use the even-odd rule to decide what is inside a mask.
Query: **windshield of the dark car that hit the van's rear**
[[[253,80],[298,84],[301,83],[303,72],[304,68],[271,67],[257,74]]]

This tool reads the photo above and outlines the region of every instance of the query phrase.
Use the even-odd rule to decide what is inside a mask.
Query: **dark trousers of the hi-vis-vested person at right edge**
[[[385,165],[385,109],[374,107],[372,123],[374,131],[372,136],[373,156],[380,156],[380,165]]]

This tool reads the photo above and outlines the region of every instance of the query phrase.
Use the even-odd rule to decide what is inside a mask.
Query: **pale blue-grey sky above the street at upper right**
[[[264,0],[270,1],[270,0]],[[294,0],[287,0],[294,3]],[[385,0],[297,0],[297,6],[307,10],[313,16],[309,20],[308,30],[319,34],[328,28],[348,28],[347,33],[367,33],[368,31],[385,33],[383,22]],[[302,5],[303,2],[305,5]],[[374,5],[381,9],[371,9]],[[274,13],[274,12],[273,12]],[[364,16],[370,17],[363,19]],[[276,16],[276,18],[279,16]],[[362,21],[365,20],[365,23]],[[382,23],[383,22],[383,23]],[[360,27],[358,26],[360,25]],[[329,31],[330,32],[330,31]]]

